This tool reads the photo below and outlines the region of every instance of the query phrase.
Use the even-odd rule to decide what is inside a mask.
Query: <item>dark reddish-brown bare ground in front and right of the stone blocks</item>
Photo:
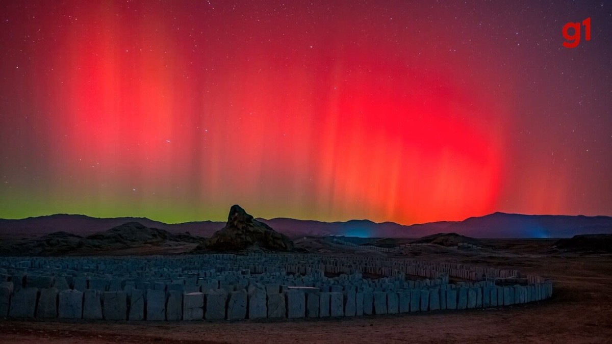
[[[554,280],[553,297],[515,307],[359,318],[209,323],[0,321],[1,343],[612,343],[612,255],[548,253],[550,241],[428,260],[508,267]]]

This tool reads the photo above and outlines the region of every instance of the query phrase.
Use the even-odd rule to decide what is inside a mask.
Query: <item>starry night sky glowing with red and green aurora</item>
[[[612,215],[611,33],[602,1],[4,0],[0,217]]]

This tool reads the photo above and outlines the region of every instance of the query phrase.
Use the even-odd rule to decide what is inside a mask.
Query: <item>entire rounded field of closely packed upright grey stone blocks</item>
[[[552,293],[550,280],[518,271],[363,255],[0,258],[0,318],[325,318],[500,307]]]

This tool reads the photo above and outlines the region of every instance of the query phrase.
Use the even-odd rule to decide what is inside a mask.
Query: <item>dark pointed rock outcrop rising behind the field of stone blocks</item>
[[[293,241],[283,234],[273,230],[263,222],[253,219],[240,206],[233,205],[228,215],[228,222],[222,230],[213,234],[205,246],[199,245],[198,250],[215,252],[237,252],[244,250],[291,251]]]

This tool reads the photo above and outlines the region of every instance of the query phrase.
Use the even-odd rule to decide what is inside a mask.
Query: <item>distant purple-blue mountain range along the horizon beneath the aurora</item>
[[[522,215],[496,212],[463,221],[431,222],[419,225],[399,225],[394,222],[375,223],[370,220],[321,222],[288,218],[257,219],[279,233],[297,236],[359,236],[359,237],[423,237],[436,233],[458,233],[480,238],[572,237],[578,234],[612,233],[612,217],[571,215]],[[159,228],[171,233],[189,232],[210,237],[225,226],[225,222],[201,221],[167,224],[141,217],[97,218],[86,215],[56,214],[28,219],[0,219],[0,234],[49,234],[65,231],[87,235],[105,231],[127,222]]]

